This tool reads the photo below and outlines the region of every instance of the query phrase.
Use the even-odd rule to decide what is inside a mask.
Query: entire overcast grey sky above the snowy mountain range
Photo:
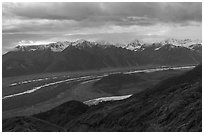
[[[57,41],[129,43],[202,39],[202,3],[45,2],[2,4],[3,53]]]

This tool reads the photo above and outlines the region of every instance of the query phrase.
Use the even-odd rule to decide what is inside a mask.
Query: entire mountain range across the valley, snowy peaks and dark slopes
[[[198,40],[168,39],[146,44],[135,40],[117,46],[77,40],[17,46],[3,55],[3,77],[44,72],[99,70],[142,65],[189,65],[202,61]]]

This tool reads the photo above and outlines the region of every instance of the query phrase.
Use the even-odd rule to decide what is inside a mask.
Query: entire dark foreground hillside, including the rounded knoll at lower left
[[[49,128],[48,124],[58,127]],[[83,132],[201,132],[202,66],[126,100],[91,107],[70,101],[32,117],[3,120],[3,131],[61,131],[56,128]]]

